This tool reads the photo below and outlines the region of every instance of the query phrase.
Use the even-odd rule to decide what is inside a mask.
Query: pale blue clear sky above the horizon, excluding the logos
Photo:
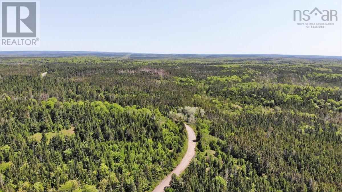
[[[0,51],[342,55],[341,0],[41,0],[40,47]],[[337,10],[306,28],[293,10]],[[322,22],[312,18],[307,22]],[[302,21],[305,22],[305,21]]]

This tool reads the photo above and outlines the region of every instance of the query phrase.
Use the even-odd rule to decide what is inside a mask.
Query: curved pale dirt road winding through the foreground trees
[[[179,176],[186,167],[190,164],[190,161],[195,156],[195,147],[196,147],[196,135],[194,130],[187,124],[185,124],[186,131],[188,132],[188,150],[186,151],[181,163],[177,165],[175,169],[164,179],[159,185],[153,190],[153,192],[162,192],[165,187],[169,186],[171,181],[171,175],[176,174]]]

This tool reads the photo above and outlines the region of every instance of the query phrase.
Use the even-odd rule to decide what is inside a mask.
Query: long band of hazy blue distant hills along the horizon
[[[222,58],[222,57],[283,57],[299,59],[339,59],[341,56],[321,55],[277,55],[277,54],[153,54],[123,52],[92,52],[92,51],[0,51],[2,56],[24,57],[67,57],[67,56],[106,56],[134,59],[182,59],[182,58]]]

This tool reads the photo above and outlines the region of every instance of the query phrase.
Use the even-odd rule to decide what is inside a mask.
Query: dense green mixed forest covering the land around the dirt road
[[[342,191],[339,59],[0,57],[1,192]],[[47,72],[47,73],[45,73]]]

